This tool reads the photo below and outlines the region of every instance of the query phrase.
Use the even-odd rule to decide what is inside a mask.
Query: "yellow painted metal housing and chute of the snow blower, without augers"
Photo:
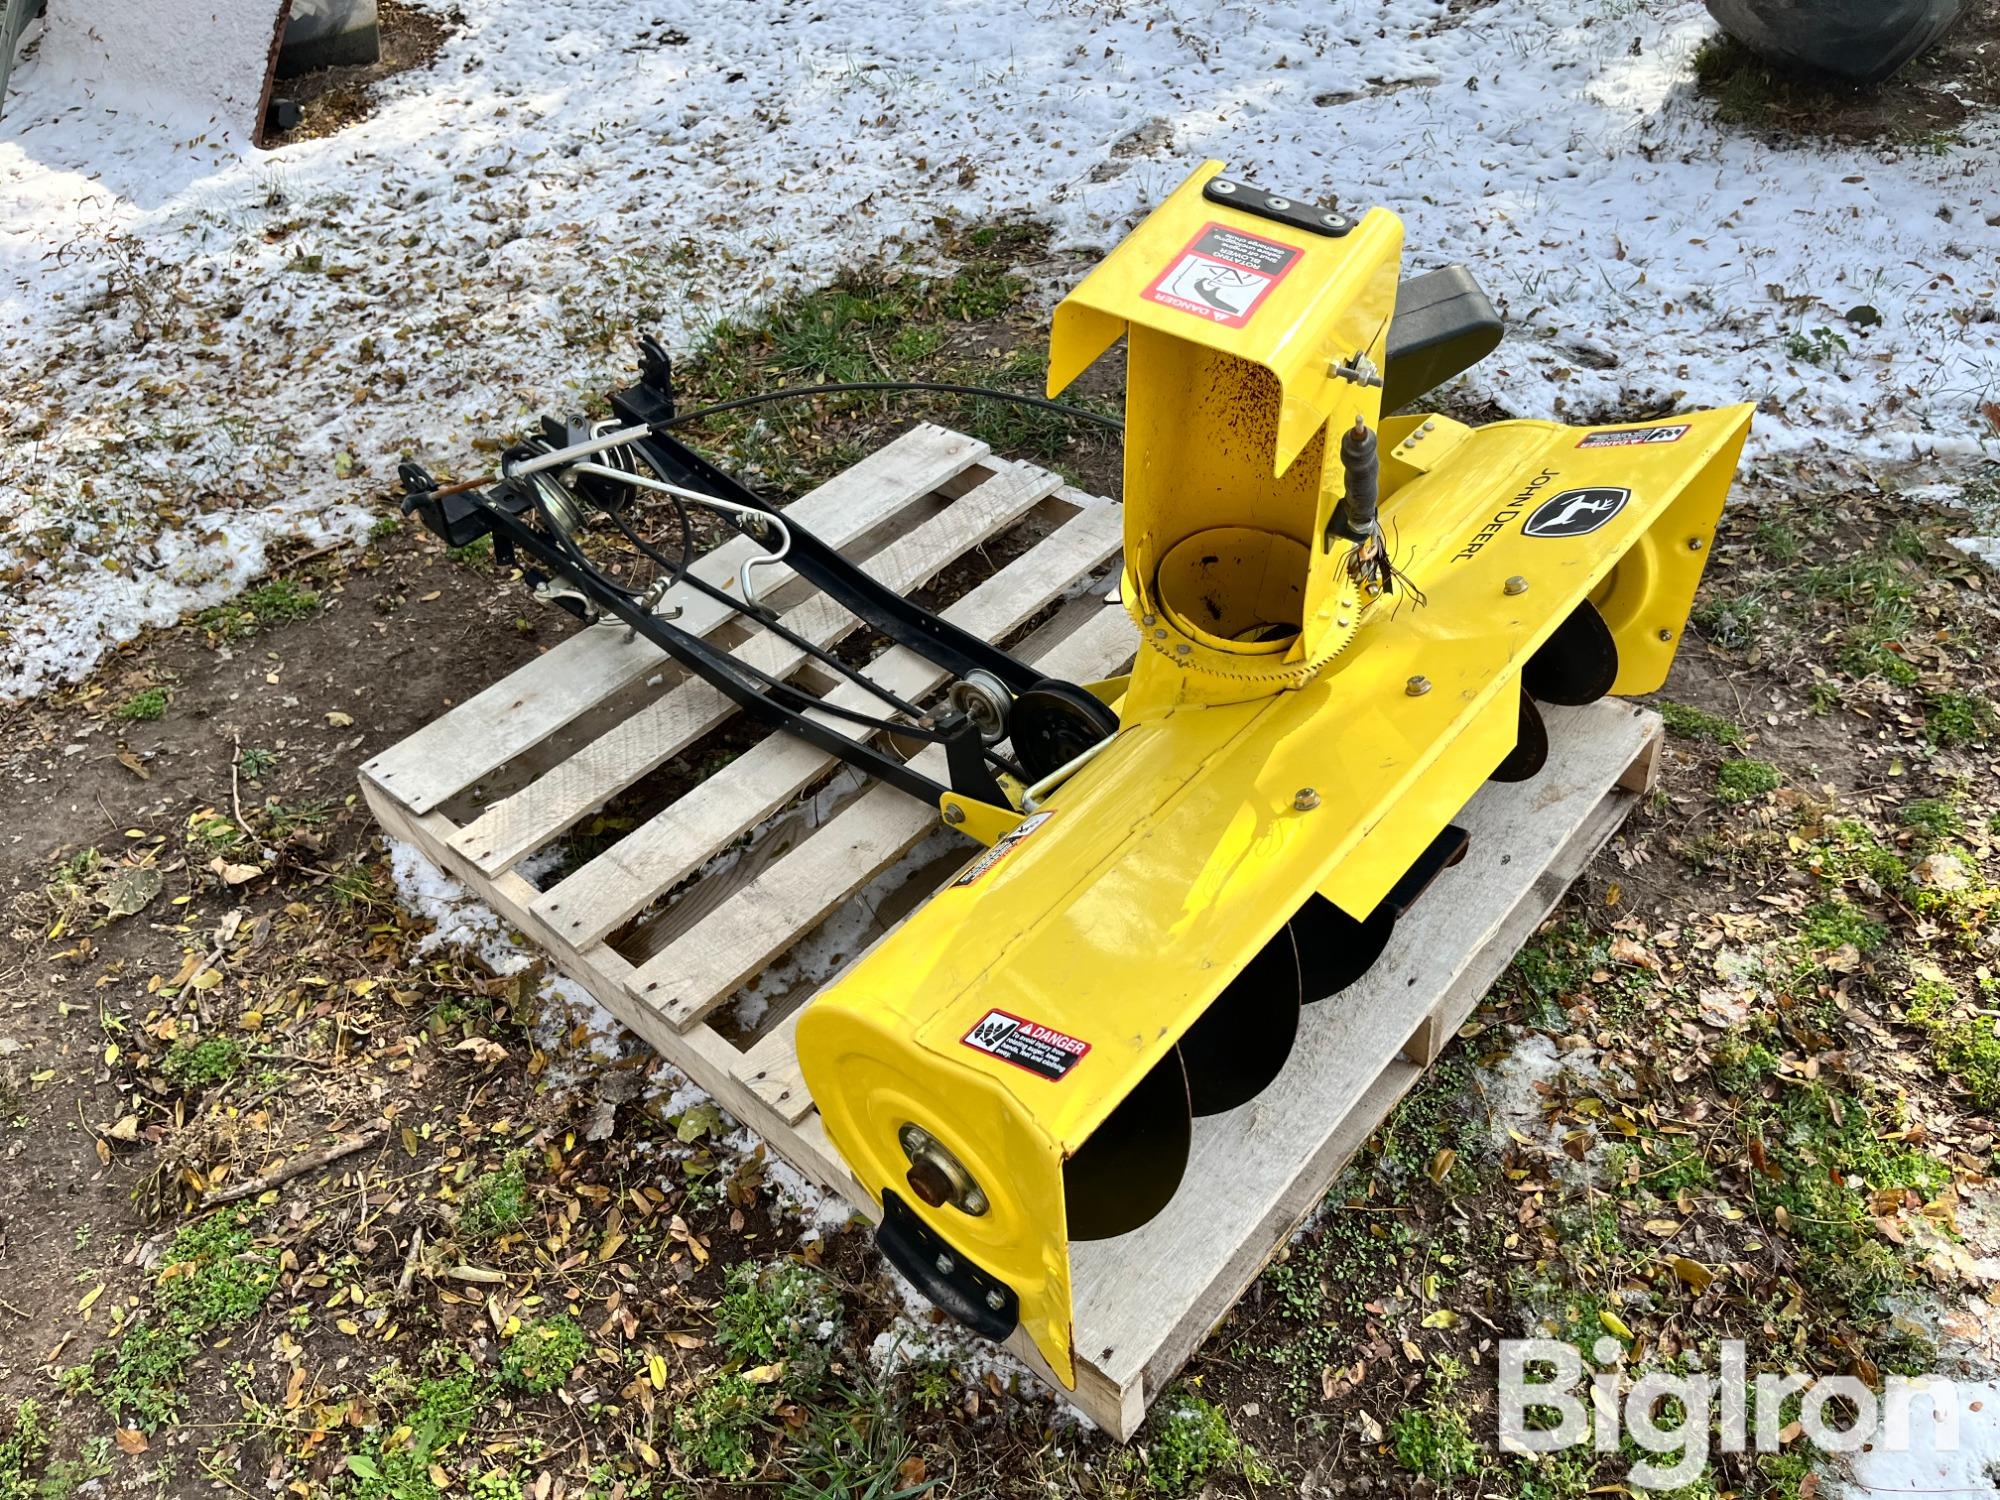
[[[872,1192],[902,1192],[904,1122],[980,1182],[986,1214],[912,1210],[1016,1290],[1064,1378],[1064,1160],[1308,896],[1368,916],[1512,748],[1522,668],[1572,610],[1608,622],[1616,690],[1664,680],[1750,422],[1748,406],[1622,428],[1380,422],[1372,390],[1324,372],[1334,352],[1380,354],[1392,216],[1306,244],[1236,214],[1300,250],[1240,326],[1146,296],[1224,222],[1200,198],[1214,170],[1056,314],[1052,390],[1132,340],[1124,594],[1142,646],[1120,732],[1042,816],[980,810],[994,848],[798,1026],[826,1128]],[[1344,486],[1326,448],[1356,414],[1380,428],[1402,574],[1382,594],[1326,540]],[[968,1044],[994,1010],[1088,1050],[1060,1076],[1014,1066]]]

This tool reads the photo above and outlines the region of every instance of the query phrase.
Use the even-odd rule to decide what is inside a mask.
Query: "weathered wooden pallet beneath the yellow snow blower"
[[[1132,658],[1130,618],[1108,602],[1118,506],[994,458],[972,438],[918,426],[788,514],[904,592],[940,574],[980,574],[946,618],[1010,644],[1050,676],[1112,676]],[[696,570],[728,584],[750,546],[730,542]],[[760,590],[778,588],[772,574],[758,576]],[[792,628],[832,644],[854,626],[802,580],[784,578],[774,600]],[[684,628],[824,690],[800,652],[714,600],[688,592],[670,602],[682,606]],[[876,656],[870,672],[910,698],[940,680],[900,648]],[[830,696],[850,700],[852,688]],[[910,866],[912,850],[938,836],[938,816],[894,788],[834,776],[836,758],[782,734],[690,792],[646,802],[656,784],[646,778],[732,714],[720,692],[656,648],[600,624],[370,760],[362,790],[384,830],[520,926],[792,1166],[874,1216],[798,1070],[792,1036],[812,986],[780,996],[748,1034],[722,1010],[812,942],[856,892]],[[1308,1008],[1280,1078],[1250,1104],[1196,1122],[1188,1176],[1166,1212],[1134,1234],[1072,1248],[1070,1400],[1114,1436],[1138,1428],[1650,784],[1656,716],[1602,702],[1550,710],[1548,726],[1544,772],[1474,798],[1460,818],[1472,832],[1466,860],[1438,878],[1362,982]],[[940,760],[938,750],[918,758]],[[942,778],[942,764],[932,774]],[[524,860],[626,792],[642,820],[618,842],[546,888],[522,874]],[[966,842],[944,866],[916,870],[854,936],[854,950],[970,850]],[[1010,1348],[1056,1384],[1026,1338],[1016,1334]]]

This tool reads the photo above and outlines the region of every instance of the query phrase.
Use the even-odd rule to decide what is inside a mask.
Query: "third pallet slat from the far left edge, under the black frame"
[[[1040,546],[944,610],[944,618],[978,636],[1008,634],[1078,576],[1112,556],[1122,516],[1114,506],[1078,512]],[[870,676],[904,698],[918,698],[944,680],[938,666],[902,646],[876,658]],[[828,702],[868,708],[874,700],[854,684],[842,684],[828,694]],[[820,718],[852,738],[864,734],[862,726],[848,720]],[[694,796],[664,808],[544,892],[534,904],[538,924],[576,948],[602,942],[834,764],[832,754],[804,740],[762,740],[704,780]]]

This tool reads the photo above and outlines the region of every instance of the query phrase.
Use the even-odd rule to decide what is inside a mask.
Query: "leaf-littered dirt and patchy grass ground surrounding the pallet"
[[[944,236],[950,278],[720,328],[690,400],[1034,388],[1030,278],[1074,268],[1032,226]],[[1094,380],[1080,400],[1116,402]],[[1116,492],[1116,440],[920,410]],[[798,494],[914,414],[698,436]],[[872,1358],[912,1330],[860,1228],[806,1234],[642,1048],[600,1056],[536,970],[402,906],[356,768],[568,618],[384,504],[366,546],[0,724],[0,1496],[1570,1498],[1632,1454],[1496,1452],[1498,1338],[1980,1368],[2000,598],[1950,546],[1966,508],[1992,530],[2000,472],[1742,476],[1658,700],[1660,788],[1118,1448],[932,1326]],[[1822,1462],[1732,1456],[1684,1494],[1808,1496]]]

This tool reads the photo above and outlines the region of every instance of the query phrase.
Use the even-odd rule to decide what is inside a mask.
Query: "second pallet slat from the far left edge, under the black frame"
[[[1060,478],[1028,464],[996,466],[992,476],[884,546],[866,568],[898,594],[908,594],[928,584],[960,554],[1018,522],[1060,486]],[[836,644],[856,624],[852,614],[824,594],[814,594],[782,620],[786,628],[816,646]],[[734,656],[778,678],[790,676],[806,662],[806,652],[768,630],[738,646]],[[494,802],[452,836],[452,848],[472,860],[482,874],[510,870],[734,712],[736,704],[728,694],[700,678],[676,682],[548,774]]]

